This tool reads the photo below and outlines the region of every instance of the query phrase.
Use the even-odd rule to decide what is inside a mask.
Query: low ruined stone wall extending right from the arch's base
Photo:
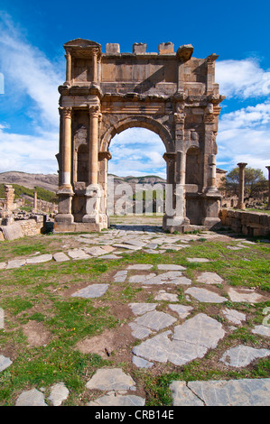
[[[222,209],[219,217],[223,226],[229,226],[235,233],[244,235],[269,235],[270,215]]]

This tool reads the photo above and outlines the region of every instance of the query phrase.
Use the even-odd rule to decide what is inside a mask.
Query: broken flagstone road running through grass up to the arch
[[[167,249],[179,251],[187,248],[191,239],[197,235],[166,235],[156,232],[157,228],[138,227],[136,231],[126,231],[118,227],[115,230],[102,232],[101,235],[76,235],[79,247],[70,249],[69,245],[62,252],[51,254],[36,253],[29,258],[16,258],[6,263],[0,263],[0,269],[14,269],[23,265],[54,261],[55,263],[76,260],[91,260],[102,258],[114,260],[121,258],[121,253],[137,252],[165,253]],[[203,234],[211,239],[216,235],[211,232]],[[221,237],[222,239],[222,237]],[[228,239],[224,236],[224,240]],[[245,239],[231,239],[231,249],[248,249]],[[98,244],[98,245],[97,245]],[[207,263],[203,257],[188,258],[191,263]],[[132,363],[139,369],[151,369],[154,364],[171,363],[174,365],[188,364],[196,358],[202,358],[215,349],[226,335],[221,322],[209,317],[206,313],[193,313],[193,307],[179,303],[177,288],[182,287],[185,300],[200,304],[221,304],[231,302],[256,303],[267,300],[266,296],[256,289],[245,287],[229,287],[227,297],[223,287],[223,279],[215,272],[199,272],[194,285],[185,275],[186,269],[175,263],[160,263],[155,271],[151,264],[136,263],[128,265],[116,272],[115,282],[128,282],[135,287],[153,290],[154,302],[130,303],[129,308],[134,319],[129,322],[132,335],[139,343],[132,349]],[[101,298],[109,289],[109,283],[88,284],[81,290],[74,290],[72,297]],[[269,300],[269,297],[268,297]],[[158,310],[160,302],[166,301],[167,309]],[[200,309],[200,308],[199,308]],[[246,315],[236,309],[228,309],[225,305],[221,314],[232,326],[240,327],[246,321]],[[270,336],[270,327],[254,326],[252,332]],[[1,354],[1,352],[0,352]],[[240,369],[251,364],[257,358],[270,355],[270,350],[245,345],[228,348],[219,361],[231,367]],[[0,355],[0,372],[12,365],[12,361]],[[121,368],[107,367],[99,369],[88,380],[86,388],[89,391],[103,392],[88,406],[144,406],[145,399],[136,394],[136,383],[130,375]],[[182,382],[175,381],[170,385],[172,405],[270,405],[270,379],[243,379],[229,381]],[[69,390],[64,383],[59,382],[50,388],[49,401],[52,405],[61,405],[68,399]],[[16,400],[16,405],[46,406],[42,390],[33,388],[22,392]]]

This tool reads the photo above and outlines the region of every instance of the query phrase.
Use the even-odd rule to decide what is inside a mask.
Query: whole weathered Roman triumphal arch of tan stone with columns
[[[161,43],[147,52],[135,43],[132,53],[95,41],[64,44],[66,81],[59,88],[59,213],[54,229],[100,231],[108,226],[107,161],[114,135],[144,127],[161,137],[172,205],[163,228],[189,225],[212,228],[219,222],[216,187],[216,136],[220,102],[215,60],[192,57],[191,44],[177,50]],[[175,51],[176,50],[176,51]]]

